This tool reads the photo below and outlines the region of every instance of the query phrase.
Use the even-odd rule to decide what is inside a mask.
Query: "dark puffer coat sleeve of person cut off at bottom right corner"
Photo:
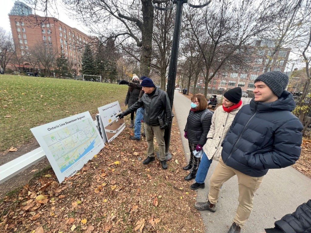
[[[276,221],[274,225],[274,228],[265,229],[266,233],[310,233],[311,199],[299,205],[295,212]]]

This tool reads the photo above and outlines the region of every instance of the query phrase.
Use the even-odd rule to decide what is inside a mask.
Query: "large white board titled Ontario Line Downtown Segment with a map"
[[[104,142],[89,112],[31,129],[59,182],[99,153]]]

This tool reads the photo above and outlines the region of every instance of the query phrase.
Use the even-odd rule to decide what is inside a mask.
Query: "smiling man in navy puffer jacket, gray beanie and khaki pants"
[[[228,233],[239,233],[252,208],[255,191],[270,168],[288,167],[301,152],[303,126],[291,111],[292,94],[284,90],[288,76],[279,71],[259,75],[255,97],[234,117],[222,142],[219,163],[211,176],[208,201],[196,203],[198,210],[216,211],[222,184],[236,175],[239,206]]]

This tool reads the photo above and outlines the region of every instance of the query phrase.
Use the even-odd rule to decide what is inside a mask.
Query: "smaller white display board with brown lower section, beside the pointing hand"
[[[105,134],[107,141],[111,142],[125,128],[124,120],[116,117],[121,112],[119,101],[99,107],[98,112],[104,127],[102,134]]]

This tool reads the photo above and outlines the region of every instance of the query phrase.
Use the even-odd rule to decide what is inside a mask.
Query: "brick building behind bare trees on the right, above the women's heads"
[[[208,89],[215,90],[229,90],[234,87],[241,87],[242,91],[253,91],[254,80],[264,73],[266,64],[271,57],[273,50],[272,41],[255,41],[254,45],[248,46],[248,57],[245,57],[249,61],[250,69],[248,71],[240,71],[238,67],[231,72],[223,72],[216,74],[216,76],[209,82]],[[276,52],[271,63],[269,71],[281,71],[284,72],[288,57],[290,54],[289,48],[283,48]],[[198,88],[205,88],[204,77],[199,77]]]

